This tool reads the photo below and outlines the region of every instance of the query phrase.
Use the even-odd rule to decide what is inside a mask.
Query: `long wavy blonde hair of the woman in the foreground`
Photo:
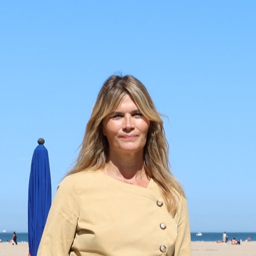
[[[103,119],[115,111],[122,98],[129,95],[140,112],[150,120],[147,142],[144,147],[144,167],[148,177],[159,186],[160,192],[171,215],[175,215],[183,188],[170,172],[169,145],[166,140],[161,114],[154,106],[150,94],[135,77],[112,75],[103,84],[87,123],[83,142],[74,167],[67,174],[86,170],[103,169],[109,160],[109,144],[102,134]]]

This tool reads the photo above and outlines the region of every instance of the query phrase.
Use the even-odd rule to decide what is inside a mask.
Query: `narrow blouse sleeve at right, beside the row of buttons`
[[[174,217],[177,219],[177,240],[173,256],[191,256],[191,235],[188,217],[187,200],[180,199],[180,206]]]

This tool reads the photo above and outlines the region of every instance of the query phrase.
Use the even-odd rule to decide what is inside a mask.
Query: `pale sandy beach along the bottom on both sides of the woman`
[[[216,242],[192,242],[192,256],[256,256],[256,241],[241,245],[218,244]],[[1,256],[27,256],[28,243],[0,243]]]

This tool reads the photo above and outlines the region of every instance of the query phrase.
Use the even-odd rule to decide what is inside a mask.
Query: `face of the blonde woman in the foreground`
[[[109,142],[109,153],[143,152],[150,121],[144,117],[129,95],[103,120],[103,135]]]

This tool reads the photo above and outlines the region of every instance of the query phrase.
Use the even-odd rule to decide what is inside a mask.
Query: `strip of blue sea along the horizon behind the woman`
[[[191,233],[191,241],[217,241],[222,240],[222,233],[218,232],[201,232],[201,236],[197,236],[196,233]],[[251,237],[252,241],[256,241],[256,232],[226,232],[229,236],[229,240],[233,237],[236,240],[245,241],[247,237]],[[17,242],[28,242],[28,233],[16,232]],[[0,233],[1,242],[7,242],[12,239],[12,233]]]

